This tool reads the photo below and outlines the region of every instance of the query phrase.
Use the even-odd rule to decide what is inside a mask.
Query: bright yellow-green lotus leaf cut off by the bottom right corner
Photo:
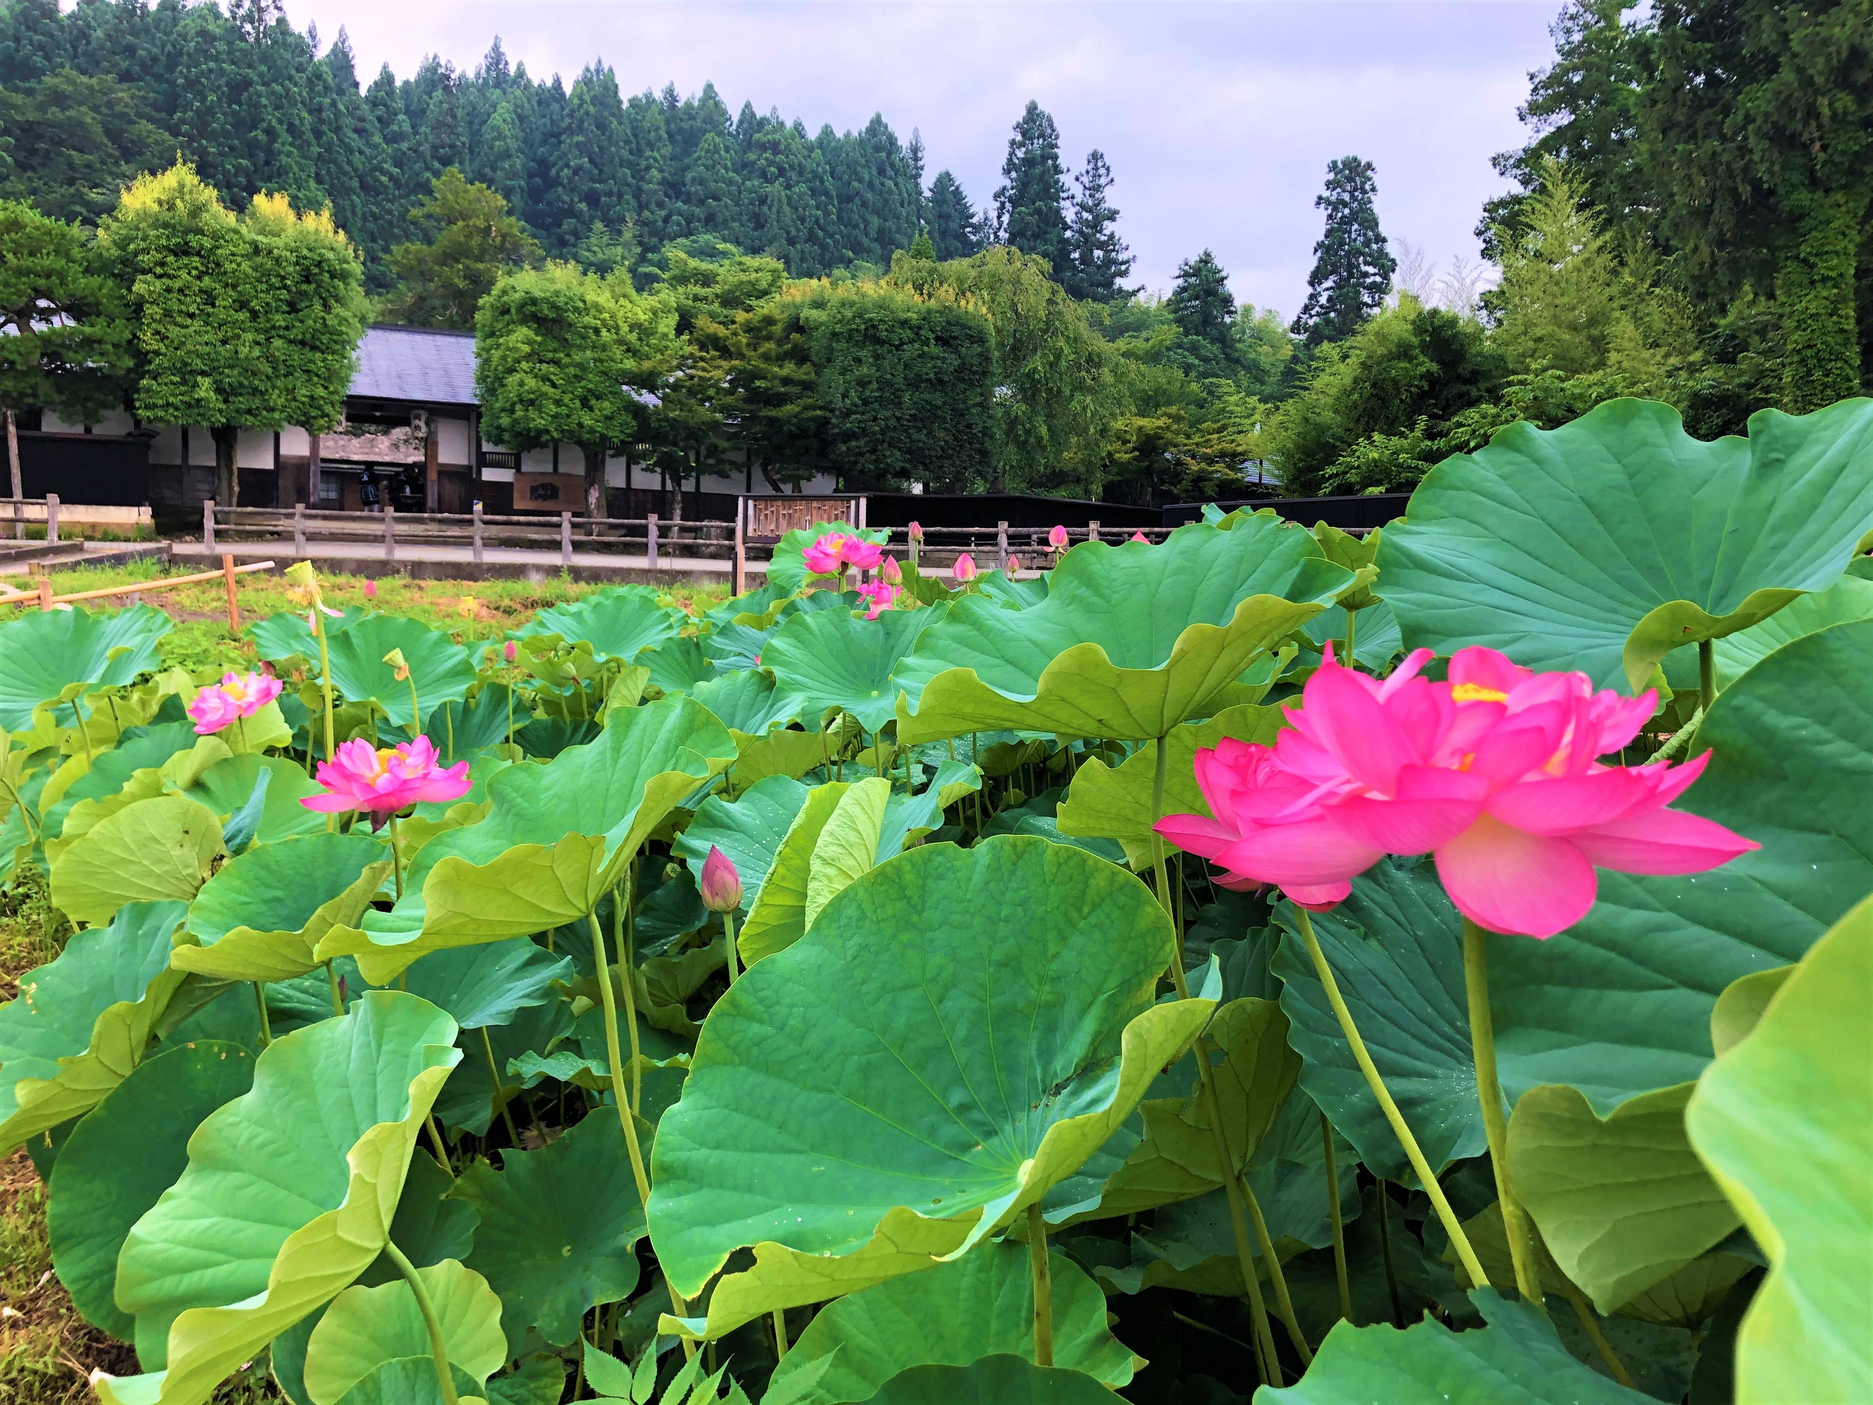
[[[1736,1334],[1736,1399],[1873,1396],[1873,901],[1699,1079],[1691,1145],[1768,1255]]]

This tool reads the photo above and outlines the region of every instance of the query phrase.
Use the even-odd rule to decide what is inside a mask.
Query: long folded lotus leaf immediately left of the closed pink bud
[[[479,824],[436,836],[410,860],[403,899],[335,927],[318,959],[356,955],[386,984],[425,952],[583,922],[669,813],[734,761],[734,740],[689,699],[612,714],[596,742],[487,785]]]

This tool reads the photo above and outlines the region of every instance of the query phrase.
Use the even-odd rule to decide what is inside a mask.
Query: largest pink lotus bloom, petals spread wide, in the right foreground
[[[1225,738],[1197,753],[1216,819],[1158,832],[1216,860],[1234,886],[1277,884],[1328,909],[1384,854],[1435,854],[1457,910],[1482,927],[1553,937],[1586,916],[1594,867],[1703,873],[1761,845],[1667,809],[1710,753],[1682,766],[1605,766],[1658,699],[1596,693],[1585,673],[1532,673],[1465,648],[1450,680],[1418,676],[1420,648],[1386,680],[1326,661],[1270,746]]]

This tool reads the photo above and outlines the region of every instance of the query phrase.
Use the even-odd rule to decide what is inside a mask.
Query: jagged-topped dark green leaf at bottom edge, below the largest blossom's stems
[[[1435,1317],[1407,1326],[1339,1323],[1307,1373],[1285,1390],[1262,1386],[1257,1405],[1373,1405],[1437,1399],[1448,1405],[1643,1405],[1650,1396],[1615,1384],[1560,1345],[1536,1308],[1489,1289],[1470,1300],[1489,1326],[1452,1332]]]

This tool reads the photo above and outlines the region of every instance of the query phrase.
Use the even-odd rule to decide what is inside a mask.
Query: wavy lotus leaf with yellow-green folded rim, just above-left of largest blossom
[[[1025,611],[957,599],[897,665],[897,736],[1013,727],[1152,738],[1201,717],[1257,654],[1302,628],[1352,573],[1274,515],[1180,526],[1163,545],[1075,547]]]

